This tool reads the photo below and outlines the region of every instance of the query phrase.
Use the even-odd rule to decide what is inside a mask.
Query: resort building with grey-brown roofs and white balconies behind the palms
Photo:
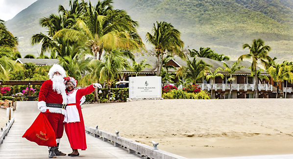
[[[138,76],[154,76],[157,72],[157,58],[154,56],[140,56],[135,59],[136,62],[140,62],[143,59],[146,59],[146,64],[152,66],[152,68],[145,68],[141,72],[138,72]],[[193,57],[189,57],[190,60],[193,60]],[[210,70],[213,72],[217,68],[222,68],[223,70],[225,67],[223,63],[226,63],[229,67],[233,65],[235,61],[216,61],[209,58],[196,58],[198,60],[203,60],[205,63],[212,65]],[[129,61],[130,64],[132,61]],[[176,69],[180,68],[181,66],[186,65],[186,61],[182,60],[180,57],[174,57],[174,60],[170,60],[167,65],[172,65]],[[241,70],[237,70],[232,77],[234,77],[234,81],[232,81],[232,98],[253,98],[253,94],[255,91],[255,79],[254,77],[250,76],[251,70],[248,67],[251,66],[251,62],[243,61],[239,63],[239,66],[244,66]],[[257,67],[257,69],[260,69]],[[169,70],[169,72],[175,71],[174,69]],[[229,98],[230,92],[230,82],[228,78],[230,78],[230,74],[226,71],[219,71],[225,77],[222,79],[220,77],[213,80],[213,98],[219,99],[227,99]],[[261,73],[262,75],[268,76],[269,80],[259,79],[258,90],[259,90],[259,98],[276,98],[277,88],[276,83],[273,82],[272,78],[269,76],[269,73],[266,71]],[[130,72],[128,70],[120,72],[120,81],[128,81],[129,77],[136,76],[136,73]],[[174,79],[174,82],[177,82],[178,79]],[[202,90],[212,91],[212,83],[210,80],[203,79],[201,82],[196,83]],[[283,86],[285,85],[285,86]],[[286,87],[287,85],[287,87]],[[293,98],[293,91],[292,91],[292,84],[289,82],[281,82],[279,86],[279,94],[283,94],[284,97],[286,95],[287,98]],[[287,91],[287,93],[286,93]]]

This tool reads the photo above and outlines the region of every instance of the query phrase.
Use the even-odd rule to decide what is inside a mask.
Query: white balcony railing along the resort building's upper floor
[[[198,85],[202,90],[208,90],[210,91],[212,89],[212,84],[196,84]],[[232,90],[244,90],[244,91],[254,91],[255,85],[254,84],[232,84]],[[226,91],[230,90],[230,84],[213,84],[213,90],[215,91]],[[272,85],[267,84],[258,84],[258,90],[259,91],[272,91]]]

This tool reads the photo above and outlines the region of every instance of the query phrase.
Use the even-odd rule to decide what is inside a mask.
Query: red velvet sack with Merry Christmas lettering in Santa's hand
[[[57,146],[55,132],[44,113],[40,113],[23,137],[41,146]]]

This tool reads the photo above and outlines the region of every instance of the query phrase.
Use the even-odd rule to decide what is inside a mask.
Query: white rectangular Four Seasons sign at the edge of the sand
[[[129,98],[161,98],[161,77],[129,77]]]

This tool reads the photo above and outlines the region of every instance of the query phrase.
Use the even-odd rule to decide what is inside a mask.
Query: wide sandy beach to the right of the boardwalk
[[[85,124],[186,158],[293,154],[293,99],[82,105]]]

